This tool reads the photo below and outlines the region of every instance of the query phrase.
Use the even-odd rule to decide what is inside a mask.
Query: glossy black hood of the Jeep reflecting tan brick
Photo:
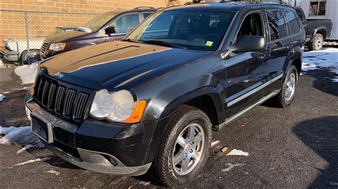
[[[41,63],[41,68],[57,80],[93,90],[131,90],[211,53],[114,41],[56,55]]]

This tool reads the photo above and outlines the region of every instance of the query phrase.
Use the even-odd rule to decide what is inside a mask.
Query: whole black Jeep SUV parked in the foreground
[[[295,96],[304,31],[280,4],[195,4],[153,13],[123,41],[42,62],[26,107],[32,131],[81,168],[188,185],[212,131]]]

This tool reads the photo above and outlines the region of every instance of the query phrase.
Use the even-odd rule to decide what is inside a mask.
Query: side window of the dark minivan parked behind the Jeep
[[[131,28],[138,26],[140,23],[138,13],[130,13],[113,21],[110,26],[115,26],[116,33],[127,33]]]

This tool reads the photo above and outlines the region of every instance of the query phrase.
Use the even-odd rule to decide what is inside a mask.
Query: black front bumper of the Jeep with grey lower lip
[[[26,103],[34,117],[52,125],[53,142],[43,143],[56,156],[78,167],[113,175],[142,175],[150,168],[152,136],[158,121],[126,125],[88,119],[77,125]]]

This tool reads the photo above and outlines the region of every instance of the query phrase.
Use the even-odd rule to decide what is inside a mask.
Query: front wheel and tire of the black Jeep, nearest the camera
[[[170,188],[193,182],[208,158],[211,126],[200,109],[183,106],[175,111],[153,163],[156,180]]]

